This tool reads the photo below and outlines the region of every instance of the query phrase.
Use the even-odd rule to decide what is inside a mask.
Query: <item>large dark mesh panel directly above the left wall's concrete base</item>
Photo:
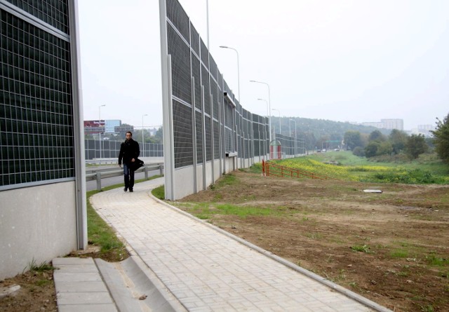
[[[72,178],[69,43],[0,11],[0,186]]]

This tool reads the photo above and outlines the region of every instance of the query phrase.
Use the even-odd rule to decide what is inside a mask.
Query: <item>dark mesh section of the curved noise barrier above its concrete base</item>
[[[180,4],[177,0],[166,0],[166,4],[168,54],[172,55],[173,116],[170,118],[173,117],[174,123],[175,168],[192,164],[193,144],[196,144],[197,163],[220,158],[220,148],[227,153],[239,151],[239,156],[245,158],[253,156],[256,150],[260,154],[262,144],[269,145],[267,119],[243,109]],[[226,100],[228,97],[235,108]],[[194,124],[192,109],[195,109]],[[192,142],[193,131],[196,142]],[[253,137],[257,140],[255,147]]]

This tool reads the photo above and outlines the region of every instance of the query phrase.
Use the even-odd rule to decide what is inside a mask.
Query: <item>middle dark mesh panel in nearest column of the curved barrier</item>
[[[168,54],[171,58],[172,93],[187,103],[192,102],[192,79],[190,78],[190,49],[175,29],[167,25]]]

